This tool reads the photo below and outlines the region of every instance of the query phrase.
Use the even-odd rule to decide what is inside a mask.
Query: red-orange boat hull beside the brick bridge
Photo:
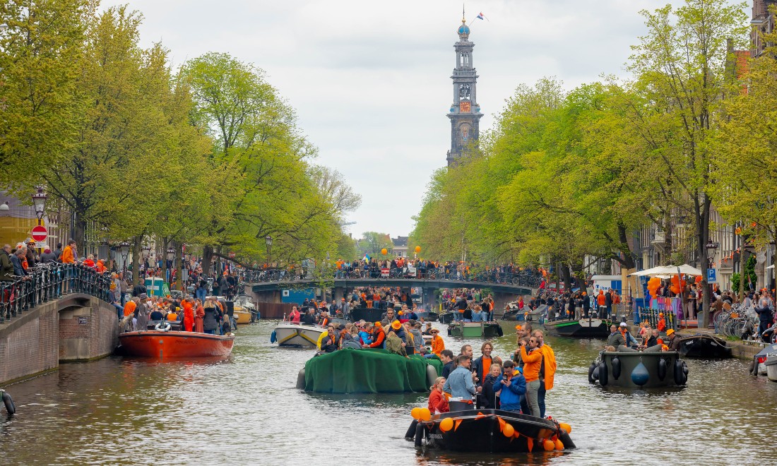
[[[148,330],[119,335],[120,353],[126,356],[192,358],[229,356],[234,335]]]

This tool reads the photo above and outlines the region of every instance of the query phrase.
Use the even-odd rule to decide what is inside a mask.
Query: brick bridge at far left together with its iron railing
[[[76,283],[81,279],[73,278],[68,294],[62,294],[68,288],[64,280],[35,280],[3,285],[0,383],[55,370],[61,362],[107,356],[118,345],[116,308],[92,296],[104,296],[102,283],[91,280],[81,286]]]

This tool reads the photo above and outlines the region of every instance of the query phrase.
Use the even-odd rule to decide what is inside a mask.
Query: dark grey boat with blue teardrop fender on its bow
[[[653,346],[653,348],[658,348]],[[588,367],[588,381],[602,387],[681,387],[688,381],[688,365],[677,351],[602,351]],[[650,349],[650,348],[649,348]]]

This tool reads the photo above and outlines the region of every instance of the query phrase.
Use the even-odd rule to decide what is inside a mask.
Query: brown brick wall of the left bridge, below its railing
[[[107,356],[118,339],[116,309],[96,297],[69,294],[39,304],[0,325],[0,383]]]

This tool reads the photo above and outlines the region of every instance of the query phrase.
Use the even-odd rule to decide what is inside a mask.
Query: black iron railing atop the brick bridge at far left
[[[112,301],[110,273],[97,273],[78,263],[40,264],[27,272],[29,275],[16,280],[0,281],[0,323],[65,294],[83,293]]]

